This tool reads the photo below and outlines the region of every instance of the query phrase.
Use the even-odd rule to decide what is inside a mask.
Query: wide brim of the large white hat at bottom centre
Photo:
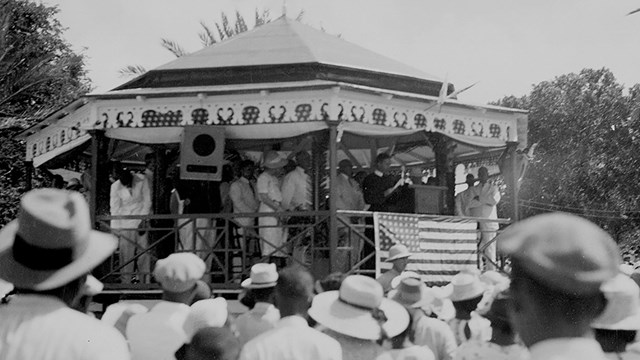
[[[339,291],[326,291],[313,298],[309,316],[321,325],[343,335],[363,340],[378,340],[380,326],[366,309],[345,304],[339,300]],[[394,337],[409,326],[409,313],[399,303],[382,299],[380,310],[387,322],[382,327]]]

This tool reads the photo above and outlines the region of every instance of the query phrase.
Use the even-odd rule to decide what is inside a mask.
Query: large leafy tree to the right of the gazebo
[[[608,69],[584,69],[497,102],[528,109],[539,144],[520,192],[525,217],[573,212],[618,237],[640,228],[640,85],[623,90]]]

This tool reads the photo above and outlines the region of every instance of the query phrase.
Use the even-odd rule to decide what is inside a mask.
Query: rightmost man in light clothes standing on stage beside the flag
[[[500,190],[494,184],[489,181],[489,171],[486,167],[478,169],[478,181],[479,184],[473,187],[471,195],[471,201],[467,208],[469,209],[469,215],[478,218],[485,219],[497,219],[498,211],[496,205],[500,201]],[[495,242],[489,244],[491,240],[496,236],[498,230],[498,223],[492,221],[480,222],[480,249],[483,250],[483,260],[486,264],[485,270],[492,270],[495,268],[488,260],[496,262],[496,244]],[[488,245],[489,244],[489,245]]]

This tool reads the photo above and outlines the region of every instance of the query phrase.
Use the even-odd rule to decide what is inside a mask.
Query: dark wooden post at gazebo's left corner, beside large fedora
[[[109,182],[109,139],[103,130],[89,130],[91,134],[91,190],[89,206],[91,220],[96,224],[96,217],[108,215],[111,183]],[[97,225],[97,224],[96,224]]]

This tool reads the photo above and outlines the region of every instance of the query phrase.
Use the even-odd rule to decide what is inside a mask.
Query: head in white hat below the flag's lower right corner
[[[478,273],[473,271],[460,271],[451,279],[451,295],[449,299],[456,309],[456,318],[469,320],[471,312],[478,308],[486,291],[485,284],[480,280]]]

